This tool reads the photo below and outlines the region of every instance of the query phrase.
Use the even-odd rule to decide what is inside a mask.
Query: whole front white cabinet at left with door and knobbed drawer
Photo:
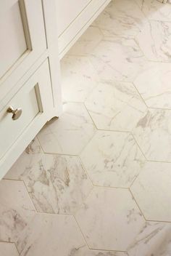
[[[0,1],[0,60],[1,178],[61,112],[55,0]]]

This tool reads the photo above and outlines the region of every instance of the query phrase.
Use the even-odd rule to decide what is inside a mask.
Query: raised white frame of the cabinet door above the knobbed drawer
[[[14,7],[14,4],[20,4],[20,14],[22,16],[22,24],[25,31],[25,41],[27,44],[27,51],[17,62],[12,65],[9,70],[4,73],[4,76],[0,78],[0,101],[4,99],[7,93],[10,93],[12,87],[17,84],[17,81],[20,80],[20,77],[23,76],[28,69],[33,65],[34,62],[41,56],[41,54],[46,50],[46,36],[44,31],[44,22],[43,22],[43,10],[41,0],[20,0],[12,1],[7,0],[0,1],[0,9],[3,9],[4,12],[0,12],[1,16],[7,15],[8,12]],[[5,30],[4,26],[1,27],[1,30]],[[16,35],[18,31],[13,31]],[[1,32],[0,32],[1,33]],[[6,41],[9,38],[5,39]],[[5,41],[0,41],[1,44],[5,44]],[[16,49],[13,49],[16,51]],[[10,58],[11,50],[6,48],[6,54]]]

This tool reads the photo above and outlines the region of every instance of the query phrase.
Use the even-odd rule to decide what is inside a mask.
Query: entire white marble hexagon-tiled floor
[[[0,182],[0,255],[170,256],[171,1],[112,0],[62,89]]]

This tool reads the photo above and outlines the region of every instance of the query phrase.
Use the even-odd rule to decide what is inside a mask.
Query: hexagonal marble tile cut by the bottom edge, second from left
[[[85,242],[72,216],[36,215],[20,234],[20,256],[68,256]]]

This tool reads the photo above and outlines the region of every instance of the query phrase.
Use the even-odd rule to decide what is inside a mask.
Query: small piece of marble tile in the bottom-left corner
[[[0,241],[0,255],[1,256],[19,256],[19,254],[17,252],[17,248],[15,247],[14,244],[4,243],[1,241]]]

